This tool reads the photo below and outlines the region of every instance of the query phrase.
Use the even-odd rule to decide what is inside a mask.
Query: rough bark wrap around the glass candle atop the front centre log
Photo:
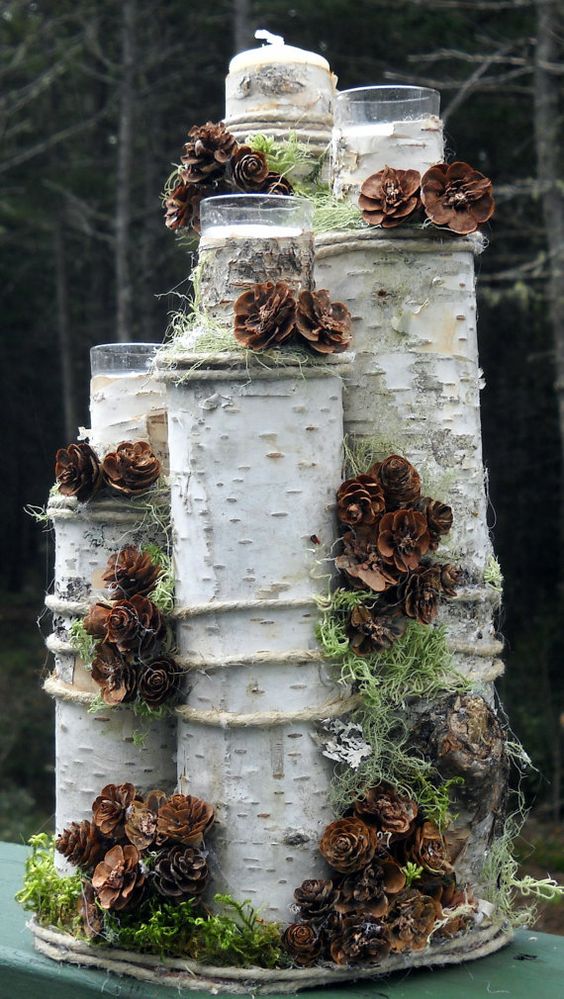
[[[202,303],[214,319],[233,322],[233,302],[257,281],[286,281],[295,291],[313,282],[313,237],[226,239],[203,236],[199,274]]]

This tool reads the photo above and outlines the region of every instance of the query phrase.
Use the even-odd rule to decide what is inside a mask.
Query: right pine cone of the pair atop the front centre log
[[[341,354],[352,337],[352,317],[344,302],[332,302],[329,292],[301,291],[296,332],[317,354]]]

